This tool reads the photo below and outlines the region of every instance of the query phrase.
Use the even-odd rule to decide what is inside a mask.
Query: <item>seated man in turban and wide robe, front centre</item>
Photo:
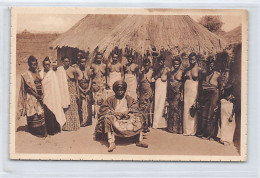
[[[96,138],[100,134],[107,134],[109,152],[116,148],[115,136],[127,138],[139,135],[136,146],[148,148],[148,145],[142,141],[144,116],[138,109],[138,102],[132,97],[125,95],[126,89],[126,82],[116,81],[113,84],[115,95],[109,97],[99,110],[95,134]]]

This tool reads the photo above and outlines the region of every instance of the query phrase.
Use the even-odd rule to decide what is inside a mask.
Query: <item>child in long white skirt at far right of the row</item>
[[[233,86],[227,85],[224,89],[221,103],[221,126],[218,133],[220,143],[229,146],[233,143],[236,127],[235,121],[235,97],[233,96]]]

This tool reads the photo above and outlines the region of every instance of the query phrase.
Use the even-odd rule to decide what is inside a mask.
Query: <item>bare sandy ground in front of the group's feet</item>
[[[26,132],[26,119],[19,120],[16,132],[16,153],[67,153],[67,154],[141,154],[141,155],[239,155],[237,149],[216,141],[202,140],[194,136],[168,133],[151,129],[144,141],[149,148],[137,147],[134,139],[116,142],[117,148],[107,152],[106,142],[94,140],[94,124],[78,131],[62,132],[46,138],[38,138]]]

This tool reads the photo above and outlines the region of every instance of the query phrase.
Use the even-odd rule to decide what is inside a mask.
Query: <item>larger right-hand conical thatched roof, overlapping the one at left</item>
[[[100,49],[106,49],[105,56],[114,46],[126,45],[141,54],[151,46],[215,53],[225,47],[225,41],[187,15],[132,15],[98,44]]]

